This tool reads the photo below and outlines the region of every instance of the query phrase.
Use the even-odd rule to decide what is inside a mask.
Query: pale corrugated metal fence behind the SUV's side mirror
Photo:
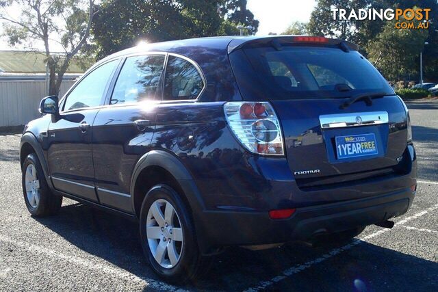
[[[75,81],[64,80],[60,96],[64,96]],[[0,127],[21,126],[40,116],[38,106],[46,96],[46,81],[0,81]]]

